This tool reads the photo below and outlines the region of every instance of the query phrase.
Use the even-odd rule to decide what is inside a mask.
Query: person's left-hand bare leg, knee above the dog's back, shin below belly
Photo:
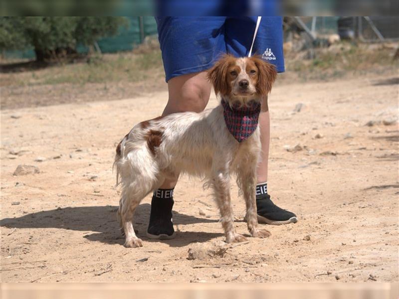
[[[169,100],[162,116],[177,112],[201,112],[209,101],[211,84],[206,72],[174,77],[168,81]],[[172,189],[176,179],[165,179],[160,189]]]

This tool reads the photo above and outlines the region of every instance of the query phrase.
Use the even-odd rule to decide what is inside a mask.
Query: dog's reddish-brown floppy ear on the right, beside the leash
[[[261,96],[266,96],[271,91],[271,86],[276,80],[277,70],[274,64],[268,63],[260,56],[252,56],[251,59],[258,68],[258,82],[256,92]]]

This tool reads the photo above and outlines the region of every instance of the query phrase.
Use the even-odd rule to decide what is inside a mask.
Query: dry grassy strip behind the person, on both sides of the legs
[[[286,72],[279,76],[277,84],[373,74],[397,76],[398,61],[393,61],[396,46],[339,43],[329,48],[289,52],[285,54]],[[6,66],[0,73],[0,107],[134,98],[167,90],[164,76],[161,51],[156,44],[144,44],[134,52],[91,56],[75,63]]]

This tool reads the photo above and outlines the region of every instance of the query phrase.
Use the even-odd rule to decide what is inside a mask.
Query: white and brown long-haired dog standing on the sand
[[[141,200],[165,178],[176,178],[180,173],[203,177],[212,187],[227,243],[245,240],[235,232],[233,224],[230,200],[233,174],[245,199],[250,234],[259,238],[270,235],[258,228],[256,216],[256,166],[260,153],[256,111],[260,110],[261,100],[270,92],[276,75],[275,67],[259,57],[225,55],[208,71],[214,91],[221,97],[220,105],[201,113],[175,113],[141,122],[123,138],[117,146],[114,165],[117,183],[119,177],[122,184],[118,219],[126,235],[126,247],[143,246],[132,224]],[[242,137],[240,132],[234,132],[234,126],[228,126],[226,111],[234,123],[234,109],[240,112],[248,107],[255,107],[249,111],[255,111],[256,122],[252,123],[252,130],[241,130],[246,134]]]

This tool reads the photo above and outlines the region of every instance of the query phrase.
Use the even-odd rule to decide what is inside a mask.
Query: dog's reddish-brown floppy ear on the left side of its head
[[[231,63],[236,58],[231,55],[223,55],[213,67],[208,70],[207,78],[212,83],[215,94],[220,93],[223,95],[229,95],[231,93],[231,86],[227,82],[227,70]]]

